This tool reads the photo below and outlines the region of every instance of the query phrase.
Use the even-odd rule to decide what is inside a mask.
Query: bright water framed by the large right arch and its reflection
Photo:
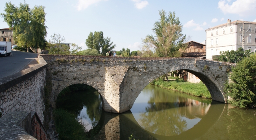
[[[146,98],[147,105],[141,100]],[[131,111],[138,124],[145,130],[172,136],[196,125],[207,114],[210,102],[210,99],[148,85],[136,99]],[[144,109],[141,106],[145,106]]]

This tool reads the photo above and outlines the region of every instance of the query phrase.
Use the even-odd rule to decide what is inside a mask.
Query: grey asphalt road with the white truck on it
[[[12,56],[0,57],[0,78],[19,72],[38,54],[32,52],[12,50]]]

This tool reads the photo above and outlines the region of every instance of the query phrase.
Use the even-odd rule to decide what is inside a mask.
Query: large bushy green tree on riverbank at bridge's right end
[[[224,87],[226,96],[231,97],[228,103],[241,108],[255,104],[256,54],[243,58],[231,70],[231,81],[227,81]]]

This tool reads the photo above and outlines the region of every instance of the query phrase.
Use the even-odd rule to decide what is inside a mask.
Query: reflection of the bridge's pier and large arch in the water
[[[147,129],[150,126],[144,125],[144,128],[146,128],[144,129],[142,127],[143,125],[141,126],[137,123],[131,111],[127,111],[122,114],[108,113],[103,111],[100,121],[101,123],[99,123],[99,125],[101,126],[101,130],[94,137],[94,139],[123,140],[128,139],[130,134],[133,134],[135,139],[141,140],[195,139],[206,133],[209,130],[209,128],[215,124],[215,122],[220,118],[224,106],[225,104],[213,101],[209,106],[207,114],[203,113],[202,116],[201,112],[199,112],[199,114],[196,113],[197,115],[202,117],[202,119],[196,125],[194,125],[187,131],[179,131],[179,133],[170,133],[171,135],[169,136],[163,135],[162,133],[157,134],[149,132]],[[156,125],[163,125],[164,123],[166,123],[164,120],[162,121],[162,124]],[[171,121],[171,123],[173,124],[166,124],[166,126],[180,126],[180,128],[184,128],[185,125],[184,123],[182,123],[182,121],[179,122],[178,120]]]

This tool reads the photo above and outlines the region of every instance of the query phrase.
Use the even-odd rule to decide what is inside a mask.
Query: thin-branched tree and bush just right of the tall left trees
[[[63,44],[63,41],[65,41],[64,36],[53,33],[50,37],[51,39],[49,39],[46,47],[46,50],[49,51],[48,54],[69,55],[69,46]]]

